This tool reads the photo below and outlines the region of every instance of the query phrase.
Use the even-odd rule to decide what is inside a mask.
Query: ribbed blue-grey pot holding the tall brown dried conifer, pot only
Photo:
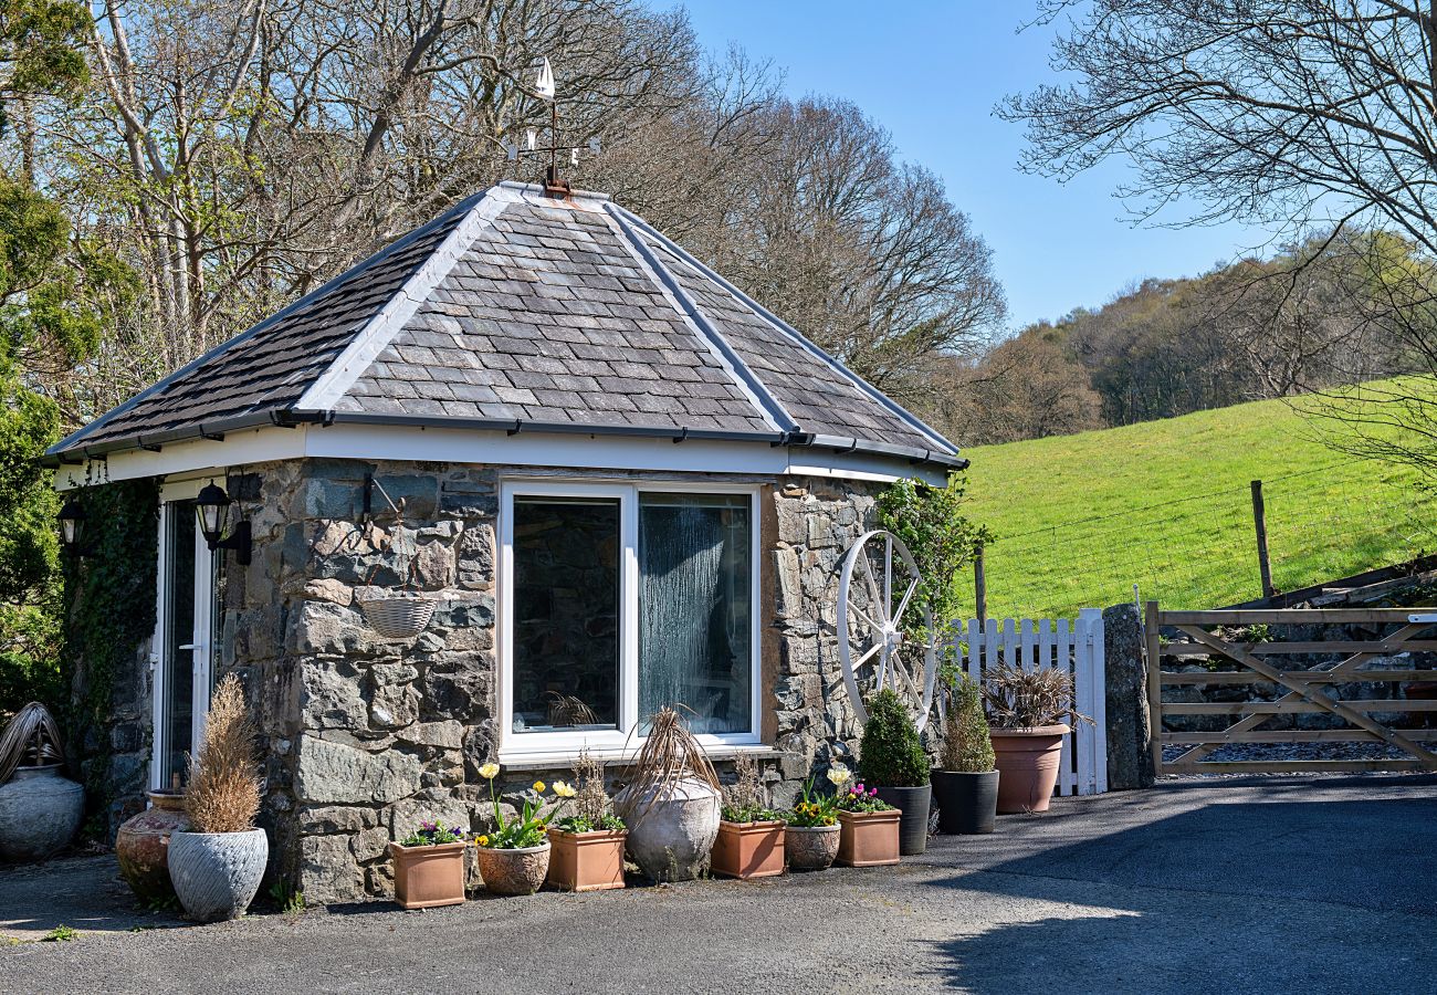
[[[239,919],[254,900],[269,863],[264,830],[175,833],[170,837],[170,880],[190,919]]]

